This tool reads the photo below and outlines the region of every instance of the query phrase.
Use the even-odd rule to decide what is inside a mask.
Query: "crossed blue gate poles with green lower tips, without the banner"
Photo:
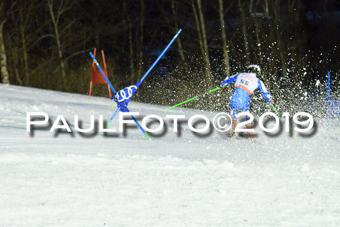
[[[143,75],[143,77],[140,79],[140,81],[142,82],[145,77],[149,74],[149,72],[153,69],[153,67],[157,64],[157,62],[162,58],[162,56],[164,55],[164,53],[169,49],[169,47],[171,46],[171,44],[173,43],[173,41],[175,41],[175,39],[177,38],[177,36],[182,32],[182,29],[178,30],[178,32],[176,33],[176,35],[173,36],[173,38],[171,39],[170,43],[168,44],[168,46],[163,50],[163,52],[158,56],[158,58],[154,61],[153,65],[150,67],[150,69],[148,71],[146,71],[146,73]],[[109,79],[106,77],[104,71],[102,70],[101,66],[99,65],[99,63],[97,62],[96,58],[93,56],[92,52],[90,52],[90,55],[94,61],[94,63],[96,64],[96,66],[98,67],[98,69],[100,70],[100,72],[102,73],[102,76],[104,77],[104,79],[106,80],[106,82],[108,83],[108,85],[111,87],[111,89],[113,90],[114,94],[117,93],[117,91],[115,90],[115,88],[112,86],[112,84],[110,83]],[[116,115],[118,114],[118,112],[120,111],[120,107],[118,107],[118,109],[116,110],[116,112],[112,115],[111,119],[109,120],[109,122],[107,122],[106,127],[107,128],[110,123],[112,122],[112,120],[116,117]],[[136,118],[134,116],[132,116],[132,119],[136,122],[136,124],[138,125],[138,127],[140,128],[140,130],[144,133],[145,137],[150,140],[149,135],[145,132],[145,130],[143,129],[143,127],[137,122]]]

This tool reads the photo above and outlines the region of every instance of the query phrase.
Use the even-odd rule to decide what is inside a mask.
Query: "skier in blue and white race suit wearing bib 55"
[[[238,73],[225,78],[220,87],[224,88],[229,83],[235,82],[234,94],[229,102],[230,116],[232,119],[232,132],[227,133],[227,136],[235,136],[235,127],[238,124],[236,114],[238,112],[248,112],[250,107],[250,95],[258,88],[267,102],[273,102],[272,96],[267,91],[263,82],[256,76],[261,72],[260,67],[257,65],[250,65],[247,67],[246,72]],[[248,120],[248,116],[246,116]],[[251,128],[252,124],[247,124],[247,128]],[[251,135],[251,133],[248,133]]]

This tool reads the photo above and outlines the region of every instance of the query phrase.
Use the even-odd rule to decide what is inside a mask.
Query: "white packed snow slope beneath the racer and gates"
[[[76,132],[74,115],[87,128],[90,115],[107,121],[116,107],[87,100],[0,84],[0,226],[340,226],[337,123],[327,135],[315,119],[311,137],[256,127],[252,142],[215,129],[198,136],[186,123],[173,132],[165,119],[216,113],[131,102],[132,112],[162,117],[167,131],[151,141],[134,124],[119,133],[117,116],[116,133],[89,136]],[[31,134],[27,112],[46,112],[51,123],[63,115],[72,133],[45,125]]]

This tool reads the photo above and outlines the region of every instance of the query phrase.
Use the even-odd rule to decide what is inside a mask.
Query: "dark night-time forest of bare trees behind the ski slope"
[[[135,84],[181,28],[133,100],[174,105],[248,64],[261,67],[276,103],[297,105],[306,91],[318,97],[328,70],[339,96],[340,1],[268,0],[268,15],[264,6],[265,0],[1,0],[1,82],[88,94],[88,52],[96,47],[119,90]],[[187,106],[223,109],[232,90]],[[92,95],[108,96],[107,86],[94,85]]]

